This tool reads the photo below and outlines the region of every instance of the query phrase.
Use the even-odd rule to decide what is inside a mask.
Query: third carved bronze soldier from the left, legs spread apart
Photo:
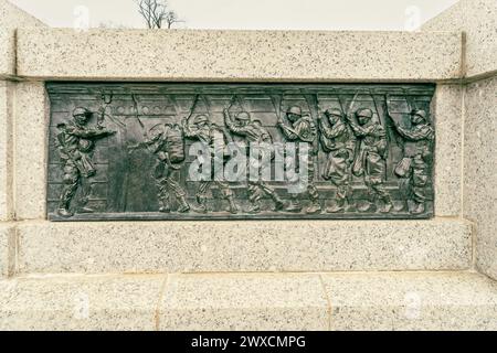
[[[224,143],[226,142],[226,133],[223,129],[218,127],[215,124],[209,121],[209,118],[205,115],[198,115],[193,119],[193,124],[190,124],[189,118],[184,118],[182,120],[184,136],[189,139],[195,139],[202,142],[205,147],[209,148],[211,153],[211,180],[209,181],[200,181],[199,189],[197,191],[197,202],[200,205],[200,212],[207,213],[207,200],[208,200],[208,191],[212,183],[218,185],[224,199],[228,200],[230,205],[230,212],[232,214],[236,214],[239,208],[234,202],[233,191],[230,189],[230,184],[224,179],[224,174],[222,170],[216,170],[215,164],[221,163],[224,164],[224,152],[216,151],[218,148],[216,138],[222,138],[221,148],[224,148]],[[221,161],[219,159],[222,159]],[[218,162],[218,163],[216,163]]]

